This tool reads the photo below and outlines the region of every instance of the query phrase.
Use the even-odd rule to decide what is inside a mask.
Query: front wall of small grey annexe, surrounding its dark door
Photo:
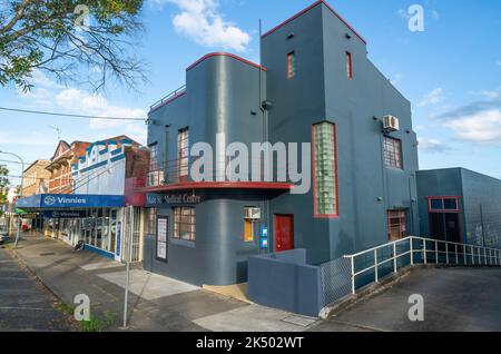
[[[428,212],[428,197],[458,196],[461,197],[463,208],[462,178],[460,168],[446,168],[418,171],[418,200],[420,213],[420,230],[424,237],[430,237],[430,216]],[[461,213],[461,225],[465,224],[464,213]],[[463,227],[463,239],[465,236]]]

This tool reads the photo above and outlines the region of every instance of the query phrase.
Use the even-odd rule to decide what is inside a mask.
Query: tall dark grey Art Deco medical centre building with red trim
[[[252,255],[305,248],[315,265],[419,232],[410,102],[369,60],[365,40],[317,1],[263,35],[262,65],[207,55],[151,107],[146,269],[228,285],[246,281]],[[263,154],[244,174],[224,153],[265,141],[273,178]],[[198,142],[214,157],[200,169]]]

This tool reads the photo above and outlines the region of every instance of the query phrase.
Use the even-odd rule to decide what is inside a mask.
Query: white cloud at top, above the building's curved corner
[[[173,19],[177,32],[206,47],[222,47],[246,51],[250,36],[237,26],[224,20],[218,11],[218,0],[154,0],[176,4],[180,13]]]

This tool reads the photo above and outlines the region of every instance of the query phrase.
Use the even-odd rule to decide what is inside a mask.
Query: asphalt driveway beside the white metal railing
[[[409,297],[422,295],[424,321],[409,319]],[[323,322],[318,332],[500,332],[501,269],[416,269],[384,293]]]

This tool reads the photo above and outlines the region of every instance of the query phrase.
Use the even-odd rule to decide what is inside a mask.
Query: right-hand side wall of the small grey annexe
[[[468,169],[461,180],[466,242],[501,248],[501,180]]]

